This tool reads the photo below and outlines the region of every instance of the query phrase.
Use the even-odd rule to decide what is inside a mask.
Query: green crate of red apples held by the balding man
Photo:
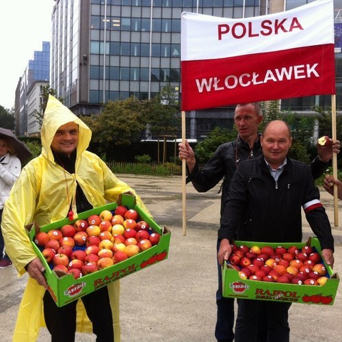
[[[332,304],[339,277],[324,264],[317,238],[306,244],[236,241],[224,265],[224,296]],[[233,272],[234,271],[234,272]],[[309,295],[310,294],[310,295]],[[320,295],[311,302],[308,298]]]

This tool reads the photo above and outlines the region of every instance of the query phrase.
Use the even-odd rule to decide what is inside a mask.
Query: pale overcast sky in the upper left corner
[[[18,79],[42,42],[51,42],[53,0],[0,0],[0,105],[14,106]]]

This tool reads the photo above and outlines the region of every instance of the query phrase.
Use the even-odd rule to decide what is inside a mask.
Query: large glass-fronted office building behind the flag
[[[129,96],[153,98],[164,86],[171,86],[181,101],[183,11],[246,18],[289,10],[308,2],[56,0],[51,88],[57,90],[58,96],[62,96],[64,103],[77,115],[98,113],[102,104],[109,100]],[[337,8],[342,4],[342,0],[334,2]],[[339,63],[337,68],[339,70]],[[338,90],[339,87],[338,84]],[[341,109],[341,96],[337,97],[337,108]],[[330,97],[289,99],[282,101],[282,108],[307,111],[314,104],[329,107]],[[189,111],[186,116],[187,137],[200,140],[215,126],[231,125],[233,107]]]

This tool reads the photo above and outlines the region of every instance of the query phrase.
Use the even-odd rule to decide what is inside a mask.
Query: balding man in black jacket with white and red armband
[[[231,254],[231,242],[302,241],[302,207],[306,220],[321,244],[328,265],[334,263],[334,239],[330,222],[319,201],[310,167],[287,157],[291,131],[280,120],[269,122],[261,137],[263,155],[239,163],[221,217],[218,231],[218,262]],[[239,311],[235,341],[257,341],[257,321],[267,308],[267,341],[289,341],[288,311],[291,303],[237,300]]]

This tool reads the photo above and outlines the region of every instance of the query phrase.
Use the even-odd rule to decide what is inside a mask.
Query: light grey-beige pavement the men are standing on
[[[118,174],[118,177],[137,190],[155,221],[160,226],[167,226],[172,233],[166,261],[121,280],[121,341],[215,341],[219,185],[206,194],[198,194],[187,185],[187,231],[184,236],[181,176]],[[323,189],[321,200],[335,238],[334,272],[342,274],[342,218],[339,218],[339,226],[334,227],[332,196]],[[341,207],[341,201],[339,205]],[[303,226],[306,241],[313,233],[305,220]],[[18,278],[14,267],[1,269],[0,277],[0,336],[1,341],[8,342],[12,341],[18,304],[27,278]],[[340,341],[341,319],[341,286],[332,306],[293,304],[289,314],[291,342]],[[46,329],[40,330],[38,341],[50,341]],[[92,334],[77,333],[76,341],[95,341],[95,338]]]

